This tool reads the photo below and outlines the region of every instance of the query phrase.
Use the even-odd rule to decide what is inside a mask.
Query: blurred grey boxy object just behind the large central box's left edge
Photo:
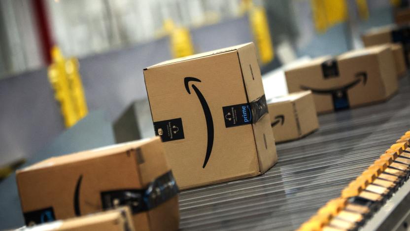
[[[140,99],[131,103],[115,120],[113,128],[116,143],[155,136],[148,99]]]

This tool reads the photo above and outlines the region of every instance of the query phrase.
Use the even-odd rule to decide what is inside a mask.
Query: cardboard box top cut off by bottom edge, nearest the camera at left
[[[16,231],[134,231],[129,207],[120,207],[67,220],[48,222]]]

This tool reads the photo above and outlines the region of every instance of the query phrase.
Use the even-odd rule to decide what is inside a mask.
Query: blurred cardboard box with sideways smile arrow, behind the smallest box
[[[285,75],[290,93],[312,91],[318,113],[384,101],[398,89],[389,45],[316,58]]]

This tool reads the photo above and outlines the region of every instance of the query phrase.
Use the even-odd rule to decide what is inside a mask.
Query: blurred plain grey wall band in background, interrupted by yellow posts
[[[191,34],[197,52],[252,40],[247,17]],[[89,111],[104,110],[114,121],[133,101],[146,98],[142,70],[171,58],[170,39],[164,37],[80,59]],[[1,79],[0,108],[0,164],[32,156],[65,129],[45,68]]]

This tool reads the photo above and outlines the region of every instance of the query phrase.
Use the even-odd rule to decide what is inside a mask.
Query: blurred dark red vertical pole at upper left
[[[41,43],[43,60],[46,64],[50,64],[50,49],[54,44],[53,39],[51,38],[50,26],[48,24],[48,20],[50,18],[47,15],[47,9],[44,5],[44,0],[32,0],[32,2],[34,9],[34,17],[37,21],[37,33]]]

